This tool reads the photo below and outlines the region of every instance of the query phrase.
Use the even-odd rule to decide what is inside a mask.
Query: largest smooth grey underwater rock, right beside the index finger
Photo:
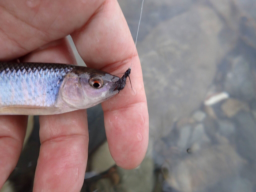
[[[150,126],[158,133],[159,114],[168,113],[165,124],[171,127],[201,105],[218,62],[233,49],[229,40],[219,39],[222,30],[224,24],[215,11],[196,6],[160,23],[137,45]]]

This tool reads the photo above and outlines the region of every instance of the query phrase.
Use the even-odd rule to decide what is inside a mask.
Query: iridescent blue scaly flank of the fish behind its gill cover
[[[72,65],[0,63],[0,103],[3,106],[54,106],[60,85]]]

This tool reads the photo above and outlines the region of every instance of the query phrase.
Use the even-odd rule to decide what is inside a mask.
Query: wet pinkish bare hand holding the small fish
[[[1,0],[0,60],[76,64],[71,34],[88,67],[111,74],[131,65],[134,41],[117,0]],[[137,52],[132,87],[102,103],[110,153],[133,169],[148,145],[148,111]],[[15,168],[26,132],[25,116],[0,116],[0,188]],[[79,192],[87,166],[86,110],[40,117],[41,148],[34,192]],[[104,158],[104,157],[103,157]]]

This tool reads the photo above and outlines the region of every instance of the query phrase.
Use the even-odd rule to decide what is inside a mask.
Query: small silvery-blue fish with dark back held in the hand
[[[0,115],[53,115],[97,105],[123,90],[120,78],[56,63],[0,62]]]

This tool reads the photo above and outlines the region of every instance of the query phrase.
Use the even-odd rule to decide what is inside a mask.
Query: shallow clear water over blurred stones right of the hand
[[[135,38],[141,1],[118,1]],[[137,49],[148,152],[124,170],[105,143],[82,191],[256,191],[255,10],[255,0],[145,1]]]

